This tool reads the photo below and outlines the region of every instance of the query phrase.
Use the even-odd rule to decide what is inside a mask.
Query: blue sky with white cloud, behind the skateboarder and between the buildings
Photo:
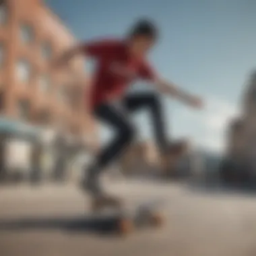
[[[133,21],[153,18],[161,29],[152,63],[164,77],[205,98],[199,113],[163,98],[169,135],[189,136],[220,150],[226,120],[237,112],[243,85],[256,67],[255,0],[48,0],[81,40],[122,36]],[[134,88],[147,90],[148,85]],[[151,136],[146,113],[135,116],[144,137]],[[143,123],[143,125],[141,124]],[[102,138],[110,133],[102,130]]]

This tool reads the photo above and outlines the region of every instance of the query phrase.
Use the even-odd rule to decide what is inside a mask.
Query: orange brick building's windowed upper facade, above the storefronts
[[[95,146],[94,122],[85,104],[89,78],[84,58],[76,57],[65,70],[49,67],[75,44],[74,36],[43,1],[0,2],[0,117],[61,130]]]

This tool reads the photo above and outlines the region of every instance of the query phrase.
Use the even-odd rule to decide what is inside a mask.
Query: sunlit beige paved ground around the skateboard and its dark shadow
[[[27,230],[0,228],[1,256],[255,256],[256,199],[189,191],[182,185],[119,183],[111,189],[128,203],[147,197],[167,200],[162,230],[127,238],[100,236],[64,226]],[[71,186],[0,189],[0,222],[18,218],[83,216],[87,199]]]

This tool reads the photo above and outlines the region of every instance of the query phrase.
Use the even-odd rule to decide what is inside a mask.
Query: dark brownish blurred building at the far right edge
[[[241,112],[241,116],[232,120],[228,127],[226,162],[222,171],[228,172],[229,168],[229,176],[235,170],[237,177],[243,174],[243,179],[247,175],[247,180],[250,180],[252,174],[256,175],[256,71],[247,81]]]

